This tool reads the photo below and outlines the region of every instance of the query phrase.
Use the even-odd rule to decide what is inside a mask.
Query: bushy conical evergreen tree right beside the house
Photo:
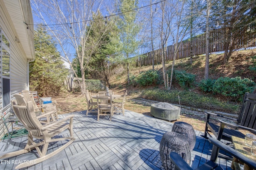
[[[34,43],[36,59],[29,63],[30,90],[36,90],[42,97],[56,96],[68,69],[64,67],[52,37],[41,25],[34,31]]]

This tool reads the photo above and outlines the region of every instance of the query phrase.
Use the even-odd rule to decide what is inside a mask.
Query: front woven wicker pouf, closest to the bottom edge
[[[190,165],[191,151],[184,135],[175,132],[164,133],[159,150],[162,164],[166,170],[174,170],[174,164],[170,161],[170,152],[178,153]]]

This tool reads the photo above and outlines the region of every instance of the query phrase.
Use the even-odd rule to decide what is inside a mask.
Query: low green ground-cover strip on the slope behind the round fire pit
[[[222,102],[217,98],[205,96],[190,91],[178,90],[160,90],[160,89],[146,89],[137,94],[139,98],[148,100],[156,100],[159,102],[168,102],[172,104],[179,104],[178,96],[180,96],[180,104],[190,107],[196,107],[208,110],[225,111],[228,113],[238,113],[239,105]]]

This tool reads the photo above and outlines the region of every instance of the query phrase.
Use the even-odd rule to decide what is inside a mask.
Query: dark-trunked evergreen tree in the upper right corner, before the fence
[[[255,1],[252,0],[213,0],[212,27],[221,28],[224,32],[224,58],[223,64],[228,63],[231,54],[240,47],[238,42],[246,45],[248,42],[241,40],[251,36],[251,27],[256,20]],[[236,49],[237,48],[237,49]]]

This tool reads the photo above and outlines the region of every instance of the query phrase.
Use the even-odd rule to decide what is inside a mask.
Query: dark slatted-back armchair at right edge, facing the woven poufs
[[[244,129],[252,133],[256,133],[256,94],[245,93],[238,119],[225,117],[236,121],[236,124],[218,120],[220,125],[217,125],[210,121],[210,115],[220,116],[206,111],[206,125],[204,135],[202,135],[202,137],[206,139],[208,138],[207,135],[212,137],[210,133],[212,132],[219,141],[223,139],[232,143],[231,136],[244,139],[245,135],[240,132],[239,129]],[[233,129],[225,128],[226,125],[233,127]]]

